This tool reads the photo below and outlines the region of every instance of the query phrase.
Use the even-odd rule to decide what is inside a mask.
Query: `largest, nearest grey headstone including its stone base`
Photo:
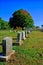
[[[14,54],[15,51],[12,50],[12,38],[5,37],[2,40],[2,56],[0,56],[0,61],[8,61],[11,55]]]

